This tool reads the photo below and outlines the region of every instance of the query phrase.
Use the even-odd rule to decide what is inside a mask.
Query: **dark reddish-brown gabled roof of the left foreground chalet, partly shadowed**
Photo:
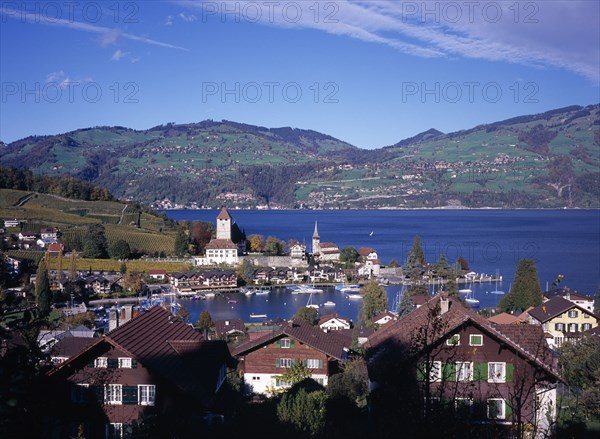
[[[50,374],[72,374],[78,369],[79,356],[89,361],[86,352],[99,356],[102,349],[109,349],[107,345],[131,355],[153,373],[204,403],[214,395],[220,366],[224,362],[229,366],[235,364],[225,342],[204,341],[191,326],[155,306],[96,339]],[[81,361],[78,364],[81,367]]]

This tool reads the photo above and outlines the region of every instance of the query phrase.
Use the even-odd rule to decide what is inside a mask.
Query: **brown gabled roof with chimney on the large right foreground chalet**
[[[373,352],[392,341],[410,348],[413,354],[418,355],[426,347],[444,340],[459,327],[472,324],[547,373],[561,379],[552,368],[551,355],[540,325],[493,324],[452,297],[447,297],[448,311],[440,313],[440,299],[441,295],[438,294],[420,308],[384,325],[369,337],[365,347]]]

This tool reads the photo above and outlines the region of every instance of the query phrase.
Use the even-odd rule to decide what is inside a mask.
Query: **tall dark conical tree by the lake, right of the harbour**
[[[500,299],[498,309],[503,312],[525,310],[542,303],[542,290],[533,259],[520,259],[512,288]]]

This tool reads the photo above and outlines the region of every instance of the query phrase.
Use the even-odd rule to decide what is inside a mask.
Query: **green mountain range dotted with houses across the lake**
[[[0,143],[0,157],[156,208],[598,208],[600,105],[432,128],[373,150],[311,130],[205,120],[31,136]]]

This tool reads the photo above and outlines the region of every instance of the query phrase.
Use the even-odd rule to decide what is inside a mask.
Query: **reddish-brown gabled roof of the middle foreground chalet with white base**
[[[273,332],[234,347],[231,354],[236,357],[245,355],[280,338],[291,337],[341,361],[346,356],[345,348],[350,346],[347,338],[341,334],[336,334],[336,332],[323,332],[318,326],[313,326],[301,320],[290,320]]]

